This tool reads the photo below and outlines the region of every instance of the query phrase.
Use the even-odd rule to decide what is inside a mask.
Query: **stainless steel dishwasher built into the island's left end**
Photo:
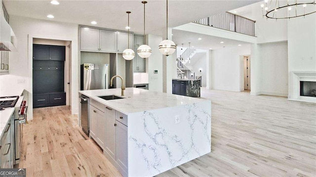
[[[81,118],[81,127],[83,132],[89,136],[89,98],[80,95],[80,118]]]

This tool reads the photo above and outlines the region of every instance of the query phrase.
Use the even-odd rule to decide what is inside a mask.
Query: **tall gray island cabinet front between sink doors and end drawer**
[[[113,159],[116,159],[115,111],[111,107],[106,107],[105,110],[105,150]]]

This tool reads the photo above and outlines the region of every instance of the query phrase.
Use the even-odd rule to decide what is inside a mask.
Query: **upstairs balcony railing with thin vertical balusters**
[[[197,20],[194,23],[228,30],[231,32],[241,33],[244,35],[255,36],[256,21],[232,14],[230,12],[219,13],[210,17]]]

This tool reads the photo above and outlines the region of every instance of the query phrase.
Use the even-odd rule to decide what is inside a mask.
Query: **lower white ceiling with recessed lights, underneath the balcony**
[[[198,40],[198,38],[201,38],[201,40]],[[248,42],[243,42],[239,40],[216,37],[212,35],[202,35],[198,33],[174,29],[172,29],[172,40],[179,47],[181,47],[182,43],[184,43],[183,46],[187,48],[189,47],[189,42],[191,42],[191,47],[194,46],[194,48],[203,50],[209,50],[209,48],[212,48],[212,50],[216,50],[221,49],[223,47],[236,47],[238,45],[249,44]],[[220,43],[222,41],[224,43]]]

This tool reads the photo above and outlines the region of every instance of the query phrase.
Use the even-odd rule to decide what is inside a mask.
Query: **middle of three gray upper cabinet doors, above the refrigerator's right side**
[[[117,32],[100,30],[100,50],[105,52],[117,51]]]

